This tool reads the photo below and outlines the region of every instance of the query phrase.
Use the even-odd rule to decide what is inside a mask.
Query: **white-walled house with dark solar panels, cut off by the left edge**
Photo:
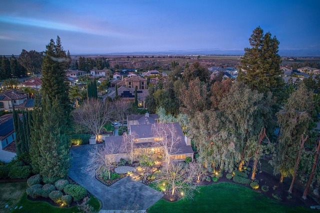
[[[0,116],[0,160],[8,162],[16,155],[12,114]]]

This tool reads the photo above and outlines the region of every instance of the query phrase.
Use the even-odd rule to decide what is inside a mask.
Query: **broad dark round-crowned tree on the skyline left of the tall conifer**
[[[26,68],[28,73],[37,74],[41,71],[42,58],[42,52],[37,52],[35,50],[26,51],[25,49],[22,49],[19,54],[18,62],[21,66]]]

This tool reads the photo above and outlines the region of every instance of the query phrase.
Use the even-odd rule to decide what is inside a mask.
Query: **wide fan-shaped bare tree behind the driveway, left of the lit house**
[[[89,98],[73,111],[73,120],[94,134],[97,140],[103,125],[110,120],[111,108],[108,101],[102,103],[96,98]]]

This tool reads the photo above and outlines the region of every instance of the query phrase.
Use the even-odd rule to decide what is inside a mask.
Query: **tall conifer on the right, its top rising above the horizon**
[[[281,57],[278,55],[279,41],[271,33],[263,34],[263,30],[256,27],[250,38],[251,48],[244,48],[239,66],[238,81],[247,84],[251,89],[280,96],[284,81],[280,69]]]

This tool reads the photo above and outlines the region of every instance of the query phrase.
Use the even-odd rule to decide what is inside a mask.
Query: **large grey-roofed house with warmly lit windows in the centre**
[[[152,117],[153,116],[153,117]],[[135,154],[139,153],[141,149],[147,149],[148,153],[152,155],[159,155],[163,148],[161,146],[155,146],[154,141],[161,140],[161,138],[153,135],[152,126],[158,125],[157,123],[157,115],[156,114],[148,114],[145,115],[130,115],[127,116],[127,123],[129,134],[135,133],[136,137],[134,139],[134,152]],[[130,124],[134,123],[134,124]],[[193,160],[193,150],[190,144],[190,139],[188,139],[185,135],[183,135],[182,129],[179,123],[167,123],[168,125],[172,125],[172,127],[176,130],[175,136],[178,138],[178,142],[174,147],[174,150],[170,154],[170,159],[172,160],[184,160],[186,157],[191,157]],[[128,155],[120,149],[122,146],[123,140],[122,136],[113,136],[113,137],[105,137],[105,143],[113,142],[119,149],[117,153],[114,153],[115,160],[119,161],[120,158],[128,159]]]

